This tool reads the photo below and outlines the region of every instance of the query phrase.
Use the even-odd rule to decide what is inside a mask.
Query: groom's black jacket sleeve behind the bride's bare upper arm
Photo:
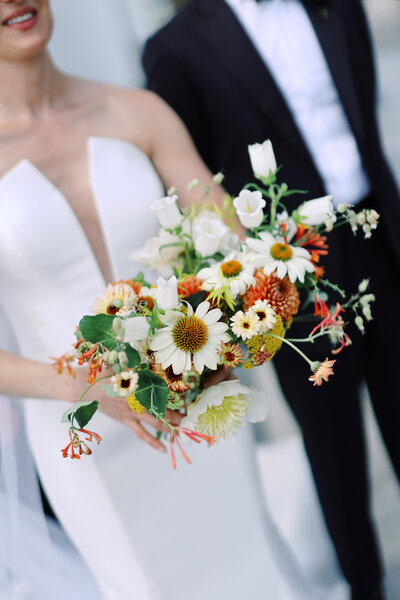
[[[189,66],[156,36],[145,46],[143,67],[147,88],[158,94],[180,116],[203,160],[212,168],[212,144],[206,107]]]

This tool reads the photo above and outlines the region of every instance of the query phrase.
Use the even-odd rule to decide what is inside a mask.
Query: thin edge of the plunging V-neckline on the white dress
[[[109,270],[109,277],[107,276],[107,272],[103,271],[100,262],[98,260],[98,256],[94,251],[93,245],[89,239],[89,237],[86,234],[85,229],[83,228],[83,225],[81,223],[81,221],[79,220],[76,212],[74,211],[74,209],[72,208],[71,204],[68,202],[67,197],[65,196],[65,194],[51,181],[51,179],[39,168],[37,167],[30,159],[24,158],[22,160],[20,160],[18,163],[16,163],[13,167],[11,167],[10,169],[8,169],[1,177],[0,177],[0,184],[3,182],[3,180],[7,177],[7,175],[9,175],[12,171],[14,171],[15,169],[17,169],[19,166],[21,166],[22,164],[26,164],[28,165],[31,169],[34,169],[35,172],[37,173],[37,175],[47,184],[49,185],[59,196],[59,198],[61,199],[61,201],[63,202],[63,204],[65,205],[65,207],[68,209],[68,211],[71,213],[71,215],[73,216],[73,219],[77,225],[77,227],[80,229],[82,235],[84,236],[84,238],[87,241],[87,244],[90,248],[90,252],[92,254],[93,260],[97,266],[99,275],[101,276],[104,284],[110,283],[111,281],[115,281],[117,279],[117,268],[115,265],[115,260],[114,260],[114,256],[113,256],[113,251],[112,251],[112,246],[110,243],[110,239],[109,239],[109,235],[108,235],[108,229],[105,226],[104,223],[104,215],[102,213],[101,210],[99,210],[99,202],[98,202],[98,196],[95,190],[95,186],[94,186],[94,177],[93,177],[93,151],[92,151],[92,147],[91,147],[91,142],[92,141],[96,141],[96,140],[109,140],[109,141],[121,141],[121,142],[126,142],[126,140],[118,140],[118,138],[111,138],[111,137],[96,137],[96,136],[90,136],[87,138],[86,140],[86,160],[87,160],[87,168],[86,168],[86,174],[87,174],[87,181],[88,181],[88,189],[89,189],[89,193],[91,196],[91,200],[92,200],[92,204],[93,204],[93,208],[95,211],[95,217],[97,218],[97,223],[98,223],[98,227],[99,227],[99,231],[101,234],[101,238],[102,238],[102,242],[104,244],[104,256],[107,259],[108,262],[108,269]],[[134,147],[136,150],[138,150],[140,153],[142,153],[144,156],[147,157],[147,155],[143,152],[143,150],[141,148],[139,148],[139,146],[136,146],[135,144],[132,144],[131,142],[126,142],[127,144],[129,144],[130,146]]]

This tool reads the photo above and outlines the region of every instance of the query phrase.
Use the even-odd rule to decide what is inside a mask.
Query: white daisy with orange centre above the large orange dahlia
[[[291,246],[283,239],[274,238],[267,231],[262,231],[259,238],[246,239],[246,245],[251,250],[249,262],[262,268],[266,275],[271,275],[276,270],[281,279],[288,275],[292,283],[296,279],[303,283],[306,272],[315,271],[311,254],[305,248]]]

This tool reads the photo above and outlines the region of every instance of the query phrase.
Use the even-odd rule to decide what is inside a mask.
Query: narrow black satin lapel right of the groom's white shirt
[[[305,8],[324,52],[353,134],[361,141],[363,125],[343,23],[333,10],[327,18],[321,18],[318,11],[308,3],[305,3]]]

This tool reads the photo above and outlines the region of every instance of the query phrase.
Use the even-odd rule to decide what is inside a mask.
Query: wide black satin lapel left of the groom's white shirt
[[[222,0],[213,0],[212,6],[194,4],[189,18],[251,101],[288,143],[309,156],[281,92],[232,10]]]

